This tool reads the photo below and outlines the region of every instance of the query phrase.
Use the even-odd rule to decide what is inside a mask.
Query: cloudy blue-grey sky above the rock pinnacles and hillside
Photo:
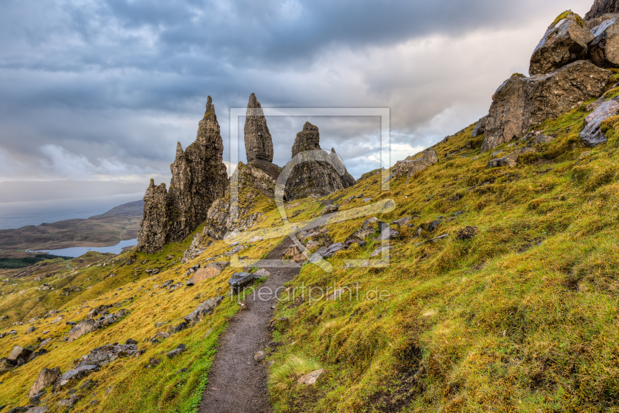
[[[228,160],[229,109],[251,92],[263,107],[390,108],[393,163],[485,115],[556,15],[591,3],[3,0],[0,181],[168,182],[207,95]],[[267,120],[274,163],[306,120]],[[310,121],[353,176],[378,167],[378,118]]]

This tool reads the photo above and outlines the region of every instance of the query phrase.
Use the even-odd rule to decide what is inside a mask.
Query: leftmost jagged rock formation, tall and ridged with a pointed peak
[[[137,236],[138,251],[161,251],[163,245],[183,240],[204,222],[210,204],[223,196],[228,184],[222,154],[222,136],[209,96],[196,141],[184,152],[180,143],[176,146],[176,159],[170,165],[170,191],[165,184],[155,186],[150,180]]]

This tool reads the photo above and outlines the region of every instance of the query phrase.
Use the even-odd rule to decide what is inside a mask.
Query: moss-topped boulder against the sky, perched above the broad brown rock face
[[[566,64],[587,58],[587,43],[593,40],[589,30],[579,24],[576,15],[550,25],[535,48],[529,66],[530,76],[555,71]]]

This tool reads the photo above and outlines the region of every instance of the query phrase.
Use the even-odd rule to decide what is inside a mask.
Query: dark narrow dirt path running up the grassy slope
[[[290,238],[269,253],[267,259],[281,259],[292,243]],[[260,287],[272,290],[292,280],[300,268],[269,268],[271,276]],[[267,368],[254,362],[254,354],[264,350],[270,341],[271,306],[275,299],[263,302],[247,297],[249,311],[239,311],[230,319],[228,329],[220,339],[209,383],[202,395],[199,413],[271,412],[267,395]]]

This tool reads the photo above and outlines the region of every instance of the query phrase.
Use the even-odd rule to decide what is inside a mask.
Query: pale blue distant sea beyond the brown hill
[[[102,198],[53,199],[48,201],[0,202],[0,230],[41,225],[103,214],[115,206],[139,201],[144,191]]]

